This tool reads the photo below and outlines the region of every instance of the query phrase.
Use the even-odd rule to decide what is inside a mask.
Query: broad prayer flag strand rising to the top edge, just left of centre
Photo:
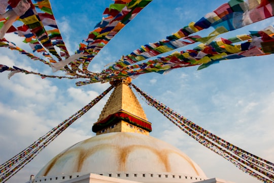
[[[152,0],[131,0],[131,1],[115,1],[109,8],[106,8],[102,21],[100,21],[95,29],[89,33],[88,38],[84,43],[79,44],[77,53],[89,54],[84,59],[72,67],[79,70],[82,65],[83,73],[88,73],[89,63],[98,52],[108,44],[108,42],[129,22],[131,21],[143,8],[145,8]]]

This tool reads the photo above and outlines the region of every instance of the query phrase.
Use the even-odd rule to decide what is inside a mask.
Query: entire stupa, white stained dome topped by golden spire
[[[28,183],[217,182],[178,148],[149,135],[151,123],[130,82],[111,83],[115,89],[92,127],[96,136],[63,150]]]

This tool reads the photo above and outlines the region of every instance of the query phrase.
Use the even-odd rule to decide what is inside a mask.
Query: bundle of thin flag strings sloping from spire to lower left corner
[[[105,92],[96,97],[89,104],[65,119],[62,123],[26,147],[19,154],[2,164],[0,166],[0,182],[7,181],[33,158],[35,158],[42,149],[44,149],[50,142],[52,142],[58,135],[60,135],[67,127],[74,123],[76,119],[84,115],[91,107],[98,103],[100,99],[106,96],[110,90],[113,89],[113,87],[114,86],[111,85],[108,89],[105,90]]]

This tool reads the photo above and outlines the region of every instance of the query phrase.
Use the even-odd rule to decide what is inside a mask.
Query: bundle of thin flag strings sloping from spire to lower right
[[[174,110],[165,106],[158,100],[149,96],[143,92],[139,87],[130,83],[131,86],[142,96],[142,99],[146,101],[150,106],[155,107],[172,123],[179,127],[183,132],[194,138],[200,144],[211,149],[218,155],[222,156],[226,160],[230,161],[233,165],[248,173],[249,175],[256,177],[263,182],[274,181],[274,164],[264,160],[258,156],[248,153],[246,150],[241,149],[226,140],[212,134],[211,132],[201,128],[194,124],[189,119],[178,114]]]

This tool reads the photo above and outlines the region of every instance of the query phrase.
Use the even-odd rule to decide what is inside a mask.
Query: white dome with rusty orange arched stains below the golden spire
[[[180,178],[206,178],[201,168],[176,147],[154,137],[125,132],[97,135],[67,148],[36,178],[76,172],[167,173]]]

